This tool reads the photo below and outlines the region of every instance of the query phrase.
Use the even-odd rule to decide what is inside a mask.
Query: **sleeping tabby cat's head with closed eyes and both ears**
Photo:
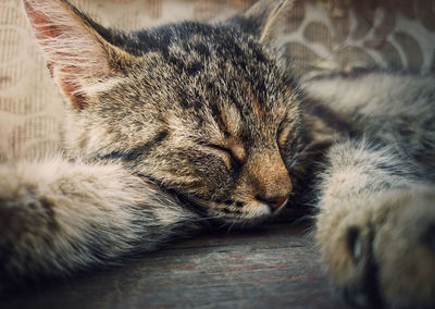
[[[122,161],[207,217],[271,217],[302,144],[296,86],[269,46],[288,2],[126,33],[63,0],[24,1],[69,103],[66,147]]]

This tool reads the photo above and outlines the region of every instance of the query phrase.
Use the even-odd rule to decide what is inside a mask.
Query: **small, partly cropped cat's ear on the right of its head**
[[[294,0],[260,0],[232,22],[266,42],[278,36],[293,7]]]

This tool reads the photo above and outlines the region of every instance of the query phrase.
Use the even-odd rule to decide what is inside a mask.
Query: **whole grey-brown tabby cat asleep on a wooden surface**
[[[0,284],[314,205],[350,301],[435,305],[434,77],[297,81],[277,46],[291,1],[138,32],[23,2],[67,104],[65,152],[0,166]]]

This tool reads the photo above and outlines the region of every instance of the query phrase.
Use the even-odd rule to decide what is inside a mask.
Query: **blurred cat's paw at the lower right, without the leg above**
[[[435,193],[390,191],[321,211],[323,262],[359,307],[435,307]]]

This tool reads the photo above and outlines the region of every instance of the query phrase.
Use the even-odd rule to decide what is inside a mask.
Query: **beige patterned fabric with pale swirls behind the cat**
[[[254,0],[76,0],[105,26],[219,21]],[[279,37],[295,70],[353,66],[435,71],[435,0],[299,0]],[[0,3],[0,159],[59,149],[62,99],[18,0]]]

